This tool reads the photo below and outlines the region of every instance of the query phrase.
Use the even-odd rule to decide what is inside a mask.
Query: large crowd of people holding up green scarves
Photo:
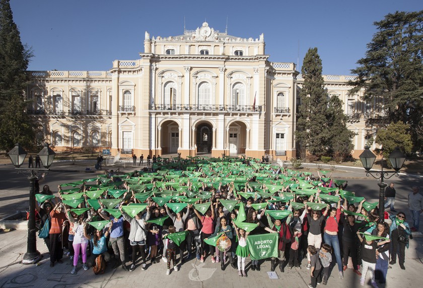
[[[305,266],[313,288],[327,284],[330,267],[341,279],[352,268],[362,285],[370,274],[375,287],[376,279],[385,283],[388,264],[397,258],[405,269],[411,237],[405,213],[380,219],[378,203],[346,190],[347,181],[329,171],[315,175],[255,159],[190,158],[119,172],[63,183],[58,197],[48,185],[36,195],[50,266],[61,263],[66,250],[73,274],[79,264],[102,273],[107,264],[133,271],[162,260],[169,275],[171,267],[178,271],[195,257],[247,277],[246,267],[260,271],[260,263],[270,260],[272,271]],[[409,207],[421,213],[417,194],[413,187]],[[418,220],[414,224],[418,229]],[[252,257],[248,238],[267,233],[278,235],[277,255]]]

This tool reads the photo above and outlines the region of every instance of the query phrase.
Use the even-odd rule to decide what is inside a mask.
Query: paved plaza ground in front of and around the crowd
[[[84,163],[85,164],[85,163]],[[81,164],[78,169],[84,170]],[[62,164],[56,164],[56,169],[63,169]],[[54,169],[54,168],[53,168]],[[122,169],[121,169],[122,170]],[[130,171],[131,169],[126,169]],[[13,172],[11,165],[5,165],[0,168],[2,172],[0,181],[12,181],[19,186],[19,189],[0,187],[0,219],[11,215],[16,211],[25,211],[28,207],[28,181],[23,176],[11,174]],[[4,173],[3,173],[4,172]],[[9,173],[9,174],[7,174]],[[14,172],[13,172],[14,173]],[[6,176],[5,176],[6,175]],[[343,176],[342,176],[343,175]],[[367,193],[366,189],[372,189],[371,198],[377,200],[378,189],[376,181],[372,181],[363,177],[364,173],[354,171],[335,171],[334,176],[345,177],[350,176],[351,179],[349,189],[358,189],[358,194]],[[360,177],[361,176],[361,177]],[[8,177],[5,179],[4,177]],[[50,177],[50,178],[49,178]],[[74,177],[74,178],[72,178]],[[45,183],[51,181],[68,181],[72,179],[82,179],[87,177],[85,173],[76,172],[70,174],[54,175],[51,173],[47,176]],[[61,178],[61,179],[60,179]],[[396,209],[405,211],[408,220],[411,218],[406,209],[406,190],[410,185],[418,185],[421,187],[421,178],[413,175],[401,175],[399,178],[393,179],[397,184],[398,199]],[[54,186],[52,186],[54,189]],[[54,189],[56,190],[56,189]],[[361,192],[362,191],[362,192]],[[370,191],[370,190],[369,190]],[[369,192],[370,193],[370,192]],[[370,199],[370,197],[369,197]],[[387,284],[381,287],[418,287],[423,281],[423,237],[421,233],[413,233],[413,240],[410,240],[410,247],[406,250],[405,267],[401,270],[398,264],[388,269]],[[307,270],[306,260],[302,261],[302,269],[285,268],[285,273],[281,273],[276,268],[279,279],[270,279],[267,271],[270,271],[270,261],[260,261],[261,271],[252,271],[250,269],[250,260],[246,260],[246,271],[248,277],[239,277],[237,270],[233,269],[229,263],[226,270],[220,269],[220,263],[212,263],[210,258],[206,258],[204,263],[199,260],[191,259],[182,264],[179,271],[171,270],[170,275],[166,275],[166,264],[161,261],[151,265],[148,262],[147,270],[140,269],[140,263],[134,271],[126,272],[121,267],[112,270],[107,267],[106,272],[102,275],[95,275],[92,269],[84,271],[81,265],[77,274],[70,274],[72,264],[68,257],[63,258],[63,263],[56,263],[54,267],[49,266],[48,250],[42,239],[37,238],[37,249],[43,254],[40,265],[23,265],[21,263],[22,256],[26,252],[27,231],[15,230],[10,232],[0,232],[0,287],[1,288],[17,288],[17,287],[307,287],[310,282],[310,270]],[[332,263],[333,266],[334,263]],[[329,287],[359,287],[360,277],[347,269],[344,272],[344,279],[338,278],[336,267],[332,270],[328,280]],[[370,283],[370,282],[369,282]],[[323,285],[320,285],[323,286]],[[370,286],[367,284],[367,286]]]

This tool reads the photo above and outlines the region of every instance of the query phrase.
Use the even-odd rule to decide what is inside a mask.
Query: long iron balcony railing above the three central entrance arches
[[[261,112],[261,106],[252,105],[189,105],[189,104],[153,104],[154,111],[222,111],[222,112]]]

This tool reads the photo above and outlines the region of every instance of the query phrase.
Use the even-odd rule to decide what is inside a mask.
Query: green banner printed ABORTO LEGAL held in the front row
[[[249,235],[247,246],[252,260],[277,257],[279,233]]]

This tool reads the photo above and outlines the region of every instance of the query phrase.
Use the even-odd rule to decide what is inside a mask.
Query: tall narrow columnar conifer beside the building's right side
[[[295,136],[303,148],[321,156],[329,150],[330,133],[327,126],[328,101],[322,76],[322,60],[317,48],[310,48],[301,68],[304,83],[300,92],[301,105],[297,114]]]

